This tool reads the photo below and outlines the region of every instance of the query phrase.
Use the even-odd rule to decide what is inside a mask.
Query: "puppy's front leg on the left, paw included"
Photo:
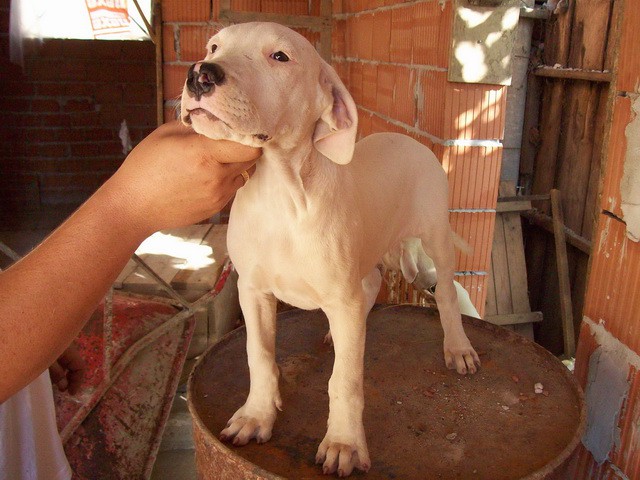
[[[282,400],[275,360],[276,298],[257,292],[238,281],[240,305],[247,328],[247,358],[251,384],[245,404],[231,417],[220,439],[246,445],[252,438],[264,443],[271,438]]]

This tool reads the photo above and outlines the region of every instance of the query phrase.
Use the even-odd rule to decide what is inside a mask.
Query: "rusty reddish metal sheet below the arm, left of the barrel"
[[[58,427],[75,479],[148,478],[195,324],[149,297],[116,294],[106,310],[76,340],[86,375],[78,397],[56,391]]]

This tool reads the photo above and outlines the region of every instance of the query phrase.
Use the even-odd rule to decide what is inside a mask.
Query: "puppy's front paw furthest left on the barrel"
[[[227,422],[227,427],[220,432],[220,440],[232,442],[236,446],[246,445],[252,439],[257,443],[265,443],[271,438],[275,420],[275,408],[273,412],[261,412],[252,411],[244,405]]]

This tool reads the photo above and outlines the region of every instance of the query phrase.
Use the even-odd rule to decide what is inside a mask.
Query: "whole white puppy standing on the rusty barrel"
[[[269,440],[282,404],[276,299],[321,308],[335,362],[316,461],[324,473],[366,471],[365,319],[385,254],[391,252],[392,267],[413,262],[414,278],[428,270],[424,258],[433,259],[446,364],[462,374],[479,364],[456,300],[445,173],[429,149],[407,136],[371,135],[356,145],[353,99],[296,32],[271,23],[234,25],[211,38],[207,51],[189,72],[182,120],[207,137],[263,149],[236,195],[227,238],[240,276],[251,386],[220,436],[236,445]]]

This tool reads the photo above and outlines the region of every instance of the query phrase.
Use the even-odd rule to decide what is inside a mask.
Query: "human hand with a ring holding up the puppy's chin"
[[[211,140],[179,122],[138,144],[104,185],[120,197],[120,212],[146,234],[191,225],[219,212],[244,185],[261,150]]]

